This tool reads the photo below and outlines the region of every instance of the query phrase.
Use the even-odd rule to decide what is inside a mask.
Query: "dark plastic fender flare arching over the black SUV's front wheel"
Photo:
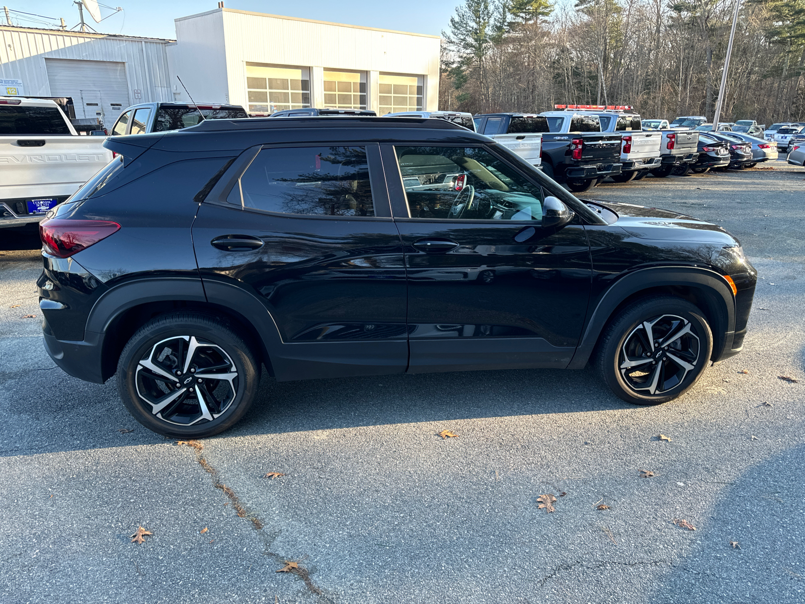
[[[681,286],[699,290],[710,304],[702,308],[710,315],[713,332],[712,358],[729,350],[735,333],[735,296],[726,279],[716,271],[701,267],[650,267],[626,273],[613,283],[598,300],[590,300],[592,312],[582,328],[580,343],[568,369],[583,368],[595,350],[601,332],[617,307],[630,296],[652,288]],[[715,321],[712,321],[715,319]]]

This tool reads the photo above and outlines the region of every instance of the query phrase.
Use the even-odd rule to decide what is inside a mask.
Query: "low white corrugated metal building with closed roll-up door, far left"
[[[3,25],[0,94],[13,88],[23,95],[72,97],[76,118],[101,118],[111,126],[129,105],[173,100],[165,50],[171,42]]]

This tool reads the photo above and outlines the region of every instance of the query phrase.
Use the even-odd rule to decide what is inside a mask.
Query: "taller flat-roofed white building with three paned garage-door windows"
[[[252,114],[301,107],[436,110],[440,37],[219,8],[175,19],[171,74],[196,101]],[[188,101],[175,83],[177,100]]]

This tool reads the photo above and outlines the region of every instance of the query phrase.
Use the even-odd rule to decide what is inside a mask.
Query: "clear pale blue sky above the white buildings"
[[[407,0],[407,2],[368,2],[366,0],[303,0],[302,2],[258,2],[257,0],[225,0],[227,8],[254,10],[260,13],[285,14],[303,19],[317,19],[335,23],[350,23],[364,27],[381,27],[419,34],[440,35],[448,27],[451,15],[460,0]],[[78,23],[78,8],[72,0],[5,0],[11,10],[41,14],[46,17],[64,17],[67,27]],[[188,14],[203,13],[217,7],[217,0],[101,0],[99,4],[121,6],[123,11],[103,23],[93,23],[85,11],[85,19],[105,34],[144,35],[155,38],[174,38],[173,19]],[[101,14],[113,11],[101,6]],[[23,19],[25,17],[26,19]],[[5,15],[0,9],[0,19]],[[12,23],[29,27],[48,27],[35,23],[28,15],[11,13]],[[39,19],[42,21],[43,19]],[[48,22],[54,23],[54,22]],[[58,21],[55,22],[58,25]]]

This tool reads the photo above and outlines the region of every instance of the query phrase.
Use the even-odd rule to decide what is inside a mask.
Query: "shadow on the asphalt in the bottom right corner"
[[[686,560],[646,602],[805,601],[803,474],[805,445],[796,445],[729,483]]]

